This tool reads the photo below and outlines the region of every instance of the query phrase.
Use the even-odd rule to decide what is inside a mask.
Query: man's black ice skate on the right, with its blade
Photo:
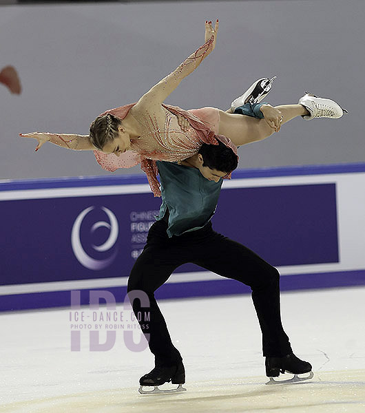
[[[265,361],[266,375],[270,377],[267,384],[274,383],[293,383],[303,380],[312,379],[314,374],[312,372],[311,363],[302,361],[295,356],[295,354],[287,354],[285,357],[267,357]],[[294,377],[289,380],[274,380],[273,377],[279,377],[279,374],[285,372],[294,374]],[[298,377],[298,374],[309,373],[306,377]]]

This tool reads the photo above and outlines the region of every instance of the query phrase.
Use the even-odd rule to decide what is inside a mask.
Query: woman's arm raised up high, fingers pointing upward
[[[174,92],[183,78],[191,74],[208,54],[214,50],[214,47],[216,47],[217,32],[218,19],[214,28],[211,25],[211,21],[206,21],[204,45],[200,46],[196,52],[185,59],[174,72],[163,78],[162,81],[158,82],[157,85],[154,85],[152,89],[149,89],[149,91],[138,100],[137,105],[143,103],[163,103],[167,96],[169,96],[171,92]]]

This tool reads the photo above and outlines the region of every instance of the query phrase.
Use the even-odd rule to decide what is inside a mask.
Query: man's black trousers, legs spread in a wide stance
[[[187,262],[250,286],[262,331],[264,356],[282,357],[292,351],[289,338],[282,328],[280,275],[276,268],[249,248],[213,231],[211,222],[202,229],[171,238],[166,229],[167,222],[163,220],[155,222],[149,229],[147,244],[128,280],[128,292],[143,290],[149,297],[149,308],[142,308],[140,300],[134,299],[133,310],[136,315],[138,312],[149,312],[149,322],[142,319],[140,327],[143,333],[149,334],[149,349],[155,356],[156,365],[176,363],[182,357],[171,342],[154,291],[167,281],[178,266]],[[232,317],[239,321],[242,313],[233,313]]]

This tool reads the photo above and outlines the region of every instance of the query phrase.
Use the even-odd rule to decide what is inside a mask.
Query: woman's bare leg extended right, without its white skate
[[[282,112],[282,125],[293,118],[309,114],[302,105],[280,105],[275,106],[275,109]],[[219,134],[227,136],[236,146],[263,140],[271,136],[275,131],[264,119],[242,116],[240,114],[229,114],[222,110],[219,111],[219,114]]]

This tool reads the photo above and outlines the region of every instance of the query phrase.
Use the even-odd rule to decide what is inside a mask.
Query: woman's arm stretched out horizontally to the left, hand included
[[[31,134],[19,134],[19,136],[38,140],[38,145],[36,145],[35,151],[38,151],[45,142],[51,142],[54,145],[67,149],[74,149],[75,151],[94,151],[96,149],[90,142],[89,135],[32,132]]]

